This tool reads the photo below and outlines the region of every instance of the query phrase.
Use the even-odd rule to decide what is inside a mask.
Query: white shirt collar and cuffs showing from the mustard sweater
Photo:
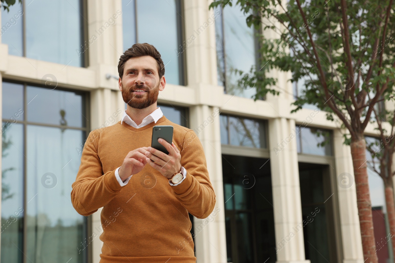
[[[162,118],[162,116],[163,116],[162,110],[160,110],[160,108],[158,107],[158,108],[156,108],[156,110],[154,110],[151,114],[149,114],[147,117],[145,117],[145,118],[143,119],[143,121],[141,121],[141,123],[140,123],[139,125],[137,125],[137,124],[129,117],[129,115],[126,114],[126,110],[124,110],[124,112],[123,112],[123,114],[122,114],[122,118],[121,118],[121,124],[122,124],[122,122],[125,122],[127,125],[130,125],[130,126],[136,128],[136,129],[138,129],[138,128],[144,127],[145,125],[151,123],[152,121],[154,121],[154,122],[156,123],[156,122],[158,121],[158,119]],[[115,170],[115,177],[117,178],[117,181],[118,181],[118,183],[119,183],[120,186],[125,186],[125,185],[129,182],[130,177],[132,177],[132,175],[130,175],[130,176],[128,177],[128,179],[126,179],[124,182],[122,182],[122,179],[119,177],[119,173],[118,173],[119,168],[120,168],[120,167],[118,167],[117,170]],[[169,181],[169,184],[170,184],[171,186],[176,186],[176,185],[181,184],[182,181],[184,181],[184,179],[186,178],[186,170],[185,170],[184,167],[181,167],[181,168],[182,168],[182,170],[183,170],[183,173],[182,173],[182,180],[181,180],[179,183],[175,184],[175,185],[173,185],[173,184],[170,183],[170,181]]]

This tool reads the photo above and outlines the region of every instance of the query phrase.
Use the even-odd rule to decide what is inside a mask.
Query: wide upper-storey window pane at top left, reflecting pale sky
[[[81,67],[82,13],[79,0],[26,4],[26,57]]]

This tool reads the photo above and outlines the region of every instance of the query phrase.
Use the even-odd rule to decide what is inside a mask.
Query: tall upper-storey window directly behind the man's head
[[[181,0],[122,0],[124,50],[135,43],[153,45],[162,56],[166,82],[176,85],[185,85],[181,4]]]

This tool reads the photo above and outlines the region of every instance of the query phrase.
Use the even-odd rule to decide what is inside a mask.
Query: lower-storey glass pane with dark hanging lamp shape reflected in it
[[[85,127],[84,96],[62,90],[27,87],[28,121]],[[45,107],[43,106],[45,105]]]

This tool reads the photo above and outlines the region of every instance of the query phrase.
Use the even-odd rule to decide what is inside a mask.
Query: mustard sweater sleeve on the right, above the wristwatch
[[[172,192],[189,213],[197,218],[206,218],[214,209],[215,194],[203,146],[192,130],[184,136],[181,166],[186,170],[186,178],[179,185],[172,186]]]

